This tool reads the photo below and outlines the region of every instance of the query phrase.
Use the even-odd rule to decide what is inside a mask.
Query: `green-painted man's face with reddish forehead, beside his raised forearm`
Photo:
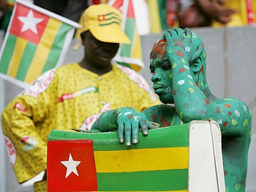
[[[150,53],[151,81],[154,92],[164,104],[173,104],[172,66],[166,56],[165,40],[154,44]]]

